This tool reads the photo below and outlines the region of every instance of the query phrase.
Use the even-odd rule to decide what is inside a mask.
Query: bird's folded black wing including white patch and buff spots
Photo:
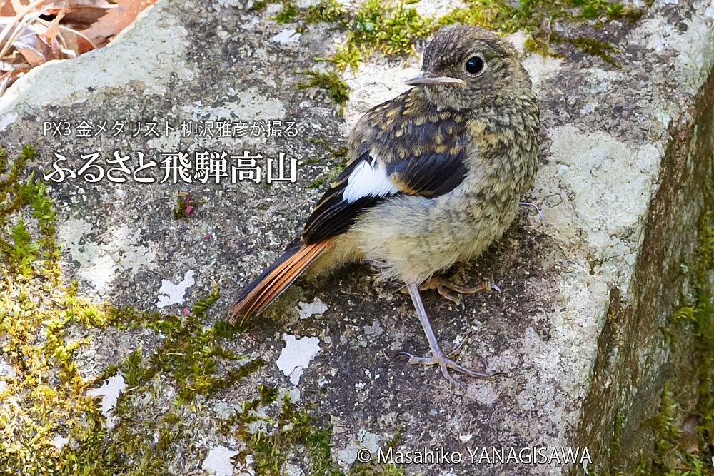
[[[371,111],[372,117],[363,124],[365,132],[355,141],[356,150],[363,152],[313,208],[303,228],[303,243],[345,233],[359,213],[388,197],[403,193],[436,198],[466,177],[468,135],[463,118],[434,112],[378,133],[368,121],[374,120],[380,107]]]

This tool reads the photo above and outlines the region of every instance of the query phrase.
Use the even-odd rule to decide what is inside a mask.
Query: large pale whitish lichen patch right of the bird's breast
[[[563,243],[584,240],[586,252],[599,262],[616,261],[598,270],[624,278],[618,280],[626,287],[655,192],[658,151],[573,126],[554,128],[550,135],[551,158],[534,186],[537,201],[548,210],[543,223]]]

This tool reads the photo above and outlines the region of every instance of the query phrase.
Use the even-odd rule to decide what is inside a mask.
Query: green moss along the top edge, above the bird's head
[[[562,21],[563,24],[590,24],[599,29],[610,21],[620,19],[632,23],[644,13],[635,6],[605,0],[468,0],[464,7],[451,9],[439,18],[430,18],[418,14],[409,6],[411,3],[417,2],[367,0],[353,11],[336,0],[323,0],[306,9],[296,9],[286,0],[283,12],[276,19],[281,22],[298,21],[301,31],[315,23],[331,23],[335,29],[346,31],[346,41],[337,47],[335,54],[316,58],[316,61],[331,62],[336,71],[348,66],[356,71],[360,61],[376,52],[391,58],[413,54],[417,41],[448,24],[479,25],[502,34],[522,30],[526,33],[528,51],[561,57],[563,55],[553,51],[553,47],[570,44],[619,67],[613,56],[619,51],[607,42],[587,35],[555,34],[552,24]],[[593,22],[593,19],[597,20]],[[343,106],[349,91],[347,88],[335,88],[338,81],[337,75],[330,75],[323,81],[302,84],[327,89],[333,101]]]

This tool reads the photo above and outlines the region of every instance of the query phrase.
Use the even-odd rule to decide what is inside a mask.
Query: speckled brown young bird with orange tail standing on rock
[[[518,52],[486,29],[456,26],[426,48],[415,86],[371,108],[348,138],[349,165],[318,201],[300,238],[254,280],[230,321],[260,313],[307,268],[368,260],[381,279],[404,283],[431,356],[404,353],[409,363],[438,365],[472,377],[443,353],[419,294],[457,260],[479,255],[516,217],[537,167],[537,98]],[[431,282],[430,282],[431,280]],[[481,287],[479,287],[481,288]],[[462,341],[463,344],[463,341]]]

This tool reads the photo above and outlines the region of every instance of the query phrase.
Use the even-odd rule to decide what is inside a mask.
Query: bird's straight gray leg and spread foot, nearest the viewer
[[[453,350],[451,350],[451,352],[445,355],[441,351],[441,348],[439,347],[439,344],[436,341],[436,335],[434,335],[434,331],[431,328],[431,323],[429,323],[429,318],[426,316],[426,310],[424,310],[424,305],[421,302],[421,295],[419,294],[418,286],[413,283],[407,283],[406,288],[409,291],[409,295],[411,296],[412,302],[414,303],[414,308],[416,308],[416,315],[419,318],[419,322],[421,322],[421,327],[424,328],[424,333],[426,333],[426,340],[429,341],[429,347],[431,348],[432,355],[431,357],[415,357],[414,355],[411,355],[410,353],[406,352],[400,352],[397,355],[405,355],[409,358],[408,363],[411,364],[438,365],[439,368],[441,368],[441,373],[446,378],[446,380],[453,383],[453,385],[456,385],[461,390],[461,393],[464,392],[463,385],[454,380],[451,374],[448,373],[449,368],[456,370],[457,372],[469,375],[470,377],[484,378],[486,380],[493,380],[493,378],[497,375],[506,375],[506,373],[503,372],[476,372],[476,370],[471,370],[469,368],[463,367],[463,365],[458,365],[458,363],[451,360],[451,358],[458,354],[458,352],[461,350],[463,343],[466,342],[466,338],[464,338],[461,343],[456,346],[456,348],[454,348]]]

